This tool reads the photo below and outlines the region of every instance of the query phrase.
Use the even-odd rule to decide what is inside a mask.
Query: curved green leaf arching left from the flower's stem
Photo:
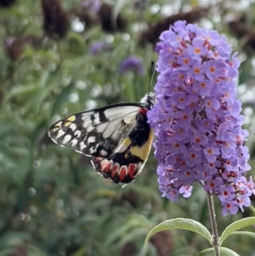
[[[149,234],[145,238],[145,243],[143,248],[147,246],[147,243],[150,237],[152,237],[157,232],[168,230],[168,229],[186,229],[186,230],[193,231],[205,237],[209,241],[209,243],[212,244],[210,232],[201,223],[196,222],[196,220],[191,220],[187,218],[175,218],[173,220],[166,220],[165,222],[160,223],[159,225],[154,227],[152,230],[150,230]]]

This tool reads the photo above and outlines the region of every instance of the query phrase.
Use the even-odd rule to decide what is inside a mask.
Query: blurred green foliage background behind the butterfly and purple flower
[[[238,90],[254,167],[254,4],[229,0],[207,8],[201,6],[206,1],[118,0],[107,25],[108,18],[94,17],[78,0],[47,1],[58,6],[54,26],[45,26],[50,11],[41,1],[0,0],[0,256],[198,255],[208,245],[184,230],[161,232],[142,246],[149,230],[168,218],[193,218],[210,228],[199,186],[175,204],[161,198],[151,153],[142,176],[121,188],[98,176],[85,156],[53,144],[47,129],[68,114],[140,100],[157,57],[150,41],[170,21],[187,19],[226,34],[240,52]],[[93,55],[94,41],[112,49]],[[147,75],[118,72],[131,55],[142,57]],[[252,216],[245,209],[223,218],[219,202],[216,211],[220,233],[233,220]],[[233,236],[224,246],[254,256],[252,239]]]

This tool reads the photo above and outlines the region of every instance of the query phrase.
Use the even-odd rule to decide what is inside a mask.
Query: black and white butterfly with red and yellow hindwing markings
[[[127,184],[147,162],[153,140],[147,111],[154,103],[154,94],[149,93],[139,103],[73,114],[53,124],[48,135],[56,144],[91,157],[94,169],[106,179]]]

